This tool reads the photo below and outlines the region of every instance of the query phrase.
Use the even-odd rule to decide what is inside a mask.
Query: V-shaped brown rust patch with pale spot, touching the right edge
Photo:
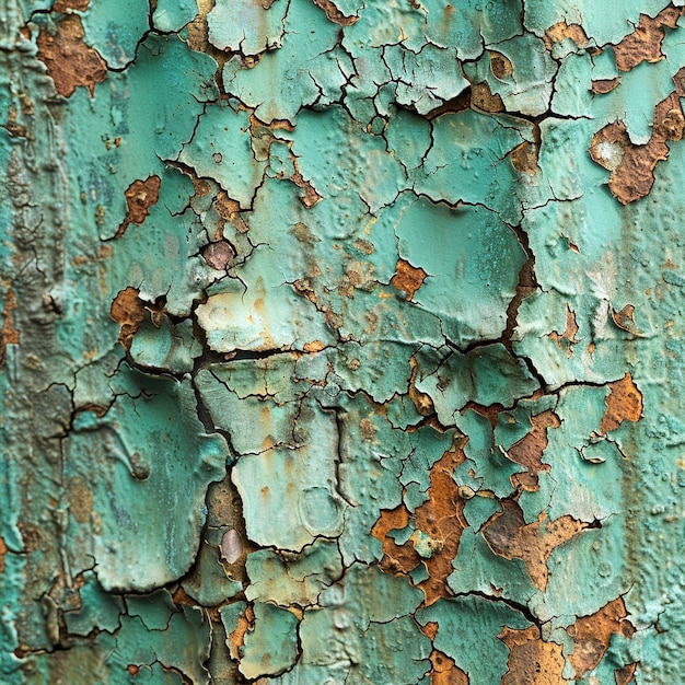
[[[628,205],[649,195],[657,164],[669,156],[666,141],[683,138],[685,116],[676,93],[654,108],[652,137],[643,146],[631,142],[623,121],[607,124],[592,138],[590,156],[611,172],[608,187],[614,197]]]

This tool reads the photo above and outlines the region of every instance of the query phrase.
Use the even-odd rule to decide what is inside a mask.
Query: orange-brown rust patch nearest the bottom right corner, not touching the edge
[[[582,616],[566,629],[573,639],[573,653],[569,657],[569,661],[576,672],[576,678],[581,678],[599,665],[608,649],[613,635],[632,637],[635,627],[627,616],[628,612],[623,597],[618,597],[595,614]]]

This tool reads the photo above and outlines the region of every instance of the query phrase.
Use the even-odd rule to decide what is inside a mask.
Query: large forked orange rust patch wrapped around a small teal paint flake
[[[414,512],[415,533],[403,545],[398,545],[387,533],[402,530],[409,522],[410,513],[400,504],[392,511],[381,512],[371,534],[383,544],[381,568],[394,574],[407,574],[420,562],[426,565],[429,578],[418,583],[423,591],[425,603],[432,604],[440,597],[451,595],[448,577],[452,573],[452,561],[456,557],[462,533],[467,527],[463,515],[464,499],[452,474],[464,461],[463,444],[446,451],[430,471],[428,501]],[[416,550],[419,535],[428,536],[431,549],[429,557]]]

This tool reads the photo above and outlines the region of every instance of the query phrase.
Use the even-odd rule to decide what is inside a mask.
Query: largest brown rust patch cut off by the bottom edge
[[[562,675],[561,646],[545,642],[537,626],[523,630],[504,627],[498,637],[510,652],[502,685],[565,685],[569,682]]]

